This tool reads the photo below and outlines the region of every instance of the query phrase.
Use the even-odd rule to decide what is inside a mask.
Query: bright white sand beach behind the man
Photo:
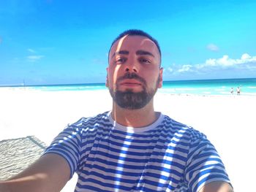
[[[108,91],[0,88],[0,141],[35,136],[46,145],[68,123],[111,109]],[[252,191],[256,96],[176,96],[157,93],[155,110],[207,135],[235,191]],[[72,179],[62,191],[74,191]]]

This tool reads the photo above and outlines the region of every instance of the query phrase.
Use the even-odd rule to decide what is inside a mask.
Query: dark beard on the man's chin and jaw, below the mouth
[[[148,93],[146,91],[140,91],[134,93],[132,91],[116,91],[110,89],[110,95],[113,100],[116,101],[119,107],[126,110],[139,110],[148,104],[149,101],[154,97],[156,91],[151,90]]]

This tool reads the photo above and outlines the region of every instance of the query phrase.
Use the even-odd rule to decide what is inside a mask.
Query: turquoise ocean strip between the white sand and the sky
[[[233,88],[240,87],[241,95],[256,96],[256,78],[224,79],[224,80],[176,80],[164,81],[159,93],[170,93],[176,95],[231,95]],[[10,88],[27,88],[37,91],[95,91],[106,90],[105,83],[85,83],[71,85],[29,85],[12,86]]]

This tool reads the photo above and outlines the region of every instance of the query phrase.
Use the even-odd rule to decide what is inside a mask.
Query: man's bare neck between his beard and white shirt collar
[[[153,99],[139,110],[127,110],[113,102],[112,118],[122,126],[143,127],[154,123],[159,113],[154,111]]]

